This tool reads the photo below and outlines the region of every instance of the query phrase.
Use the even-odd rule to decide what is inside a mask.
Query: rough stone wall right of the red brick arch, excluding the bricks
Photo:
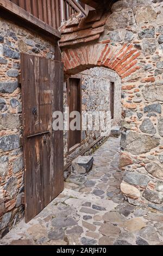
[[[163,1],[118,1],[103,38],[140,50],[139,71],[122,79],[121,190],[163,211]],[[139,201],[139,203],[137,203]]]

